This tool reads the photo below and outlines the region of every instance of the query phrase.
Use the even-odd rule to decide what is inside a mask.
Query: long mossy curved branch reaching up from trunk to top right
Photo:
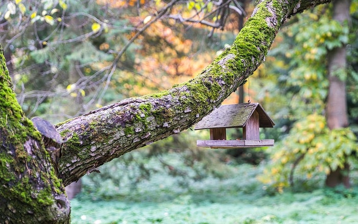
[[[63,137],[64,185],[136,148],[190,128],[262,63],[291,15],[330,0],[261,0],[231,47],[196,78],[170,90],[125,99],[57,125]]]

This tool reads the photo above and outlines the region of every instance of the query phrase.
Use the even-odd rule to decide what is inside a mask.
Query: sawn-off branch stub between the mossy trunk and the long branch
[[[47,120],[40,117],[33,117],[32,122],[35,128],[41,133],[42,141],[46,150],[50,153],[52,164],[56,175],[58,174],[58,161],[61,156],[62,138],[56,128]]]

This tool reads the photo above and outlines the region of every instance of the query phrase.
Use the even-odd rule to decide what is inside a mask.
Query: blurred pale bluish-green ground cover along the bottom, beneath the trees
[[[240,165],[231,171],[232,178],[208,177],[186,186],[158,173],[135,190],[106,189],[110,200],[81,193],[71,201],[72,223],[358,222],[356,188],[277,194],[255,179],[261,168]]]

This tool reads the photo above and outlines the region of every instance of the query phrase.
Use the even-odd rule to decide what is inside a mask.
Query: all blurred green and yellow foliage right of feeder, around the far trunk
[[[255,81],[264,79],[253,89],[259,89],[255,96],[278,120],[273,133],[281,140],[268,151],[271,160],[259,179],[280,192],[288,186],[297,190],[297,182],[305,188],[304,183],[343,168],[345,162],[352,169],[358,164],[357,61],[350,56],[358,52],[357,10],[351,10],[352,21],[341,26],[331,19],[331,7],[322,5],[290,19],[253,76]],[[337,76],[347,83],[350,125],[329,131],[324,117],[329,84],[326,58],[329,50],[342,44],[348,44],[348,66]]]

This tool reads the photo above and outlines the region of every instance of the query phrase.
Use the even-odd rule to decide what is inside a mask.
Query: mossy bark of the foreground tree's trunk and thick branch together
[[[57,125],[63,185],[103,163],[188,129],[242,85],[264,60],[285,19],[330,0],[261,0],[231,47],[195,79],[129,98]],[[64,188],[39,133],[16,102],[0,52],[0,222],[68,223]]]

